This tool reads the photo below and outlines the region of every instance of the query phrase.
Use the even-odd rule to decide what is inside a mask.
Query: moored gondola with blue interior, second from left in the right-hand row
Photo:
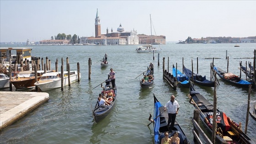
[[[206,80],[205,75],[204,77],[202,77],[202,75],[193,73],[193,78],[192,78],[192,71],[187,69],[184,65],[183,65],[183,71],[184,71],[184,74],[187,75],[189,79],[191,81],[194,81],[194,83],[196,83],[197,85],[214,87],[214,81]]]

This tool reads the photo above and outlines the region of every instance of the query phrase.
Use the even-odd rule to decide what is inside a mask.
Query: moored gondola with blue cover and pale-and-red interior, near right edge
[[[249,87],[249,85],[251,85],[251,82],[243,80],[239,76],[237,76],[233,73],[228,73],[214,65],[213,65],[213,70],[217,73],[217,75],[219,75],[221,80],[229,82],[233,85],[237,85],[240,87]]]

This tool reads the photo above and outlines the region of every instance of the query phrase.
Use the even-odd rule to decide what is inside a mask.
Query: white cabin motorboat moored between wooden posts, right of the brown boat
[[[81,77],[81,74],[80,74]],[[78,79],[77,73],[70,75],[70,83],[75,82]],[[35,82],[35,85],[39,87],[41,91],[49,91],[52,89],[61,87],[61,78],[50,79],[50,80],[38,80]],[[64,76],[63,78],[63,86],[69,85],[68,76]]]

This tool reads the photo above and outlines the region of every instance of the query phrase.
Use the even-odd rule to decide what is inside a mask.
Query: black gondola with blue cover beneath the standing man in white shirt
[[[150,120],[149,117],[149,121]],[[154,140],[155,144],[161,144],[161,139],[165,137],[165,132],[169,131],[167,127],[168,113],[165,111],[164,106],[156,99],[154,94]],[[190,144],[186,134],[182,130],[181,126],[177,121],[175,121],[172,133],[169,133],[169,138],[171,138],[175,132],[178,132],[180,138],[180,144]]]

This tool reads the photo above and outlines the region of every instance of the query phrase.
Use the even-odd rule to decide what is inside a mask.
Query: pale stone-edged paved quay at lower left
[[[46,92],[0,91],[0,130],[48,101]]]

